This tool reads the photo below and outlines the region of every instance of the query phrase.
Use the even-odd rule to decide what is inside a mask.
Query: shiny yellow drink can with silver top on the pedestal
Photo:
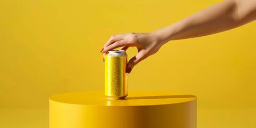
[[[125,50],[111,50],[105,56],[105,95],[124,99],[128,95],[127,54]]]

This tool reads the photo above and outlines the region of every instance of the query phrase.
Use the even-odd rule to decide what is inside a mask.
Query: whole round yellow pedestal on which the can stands
[[[57,94],[50,97],[50,127],[143,128],[196,127],[194,95],[129,91],[124,100],[103,91]]]

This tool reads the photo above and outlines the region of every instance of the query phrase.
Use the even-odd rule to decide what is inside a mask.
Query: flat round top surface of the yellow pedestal
[[[85,106],[155,106],[196,100],[194,95],[159,91],[129,91],[123,100],[108,99],[104,91],[70,92],[53,95],[51,101]]]

